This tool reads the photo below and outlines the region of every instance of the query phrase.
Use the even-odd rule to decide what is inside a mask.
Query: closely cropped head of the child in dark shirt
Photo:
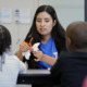
[[[69,51],[87,52],[87,22],[74,22],[66,28]]]

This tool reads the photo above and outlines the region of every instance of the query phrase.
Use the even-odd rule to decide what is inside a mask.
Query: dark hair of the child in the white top
[[[9,48],[11,45],[11,35],[7,27],[0,25],[0,55]]]

